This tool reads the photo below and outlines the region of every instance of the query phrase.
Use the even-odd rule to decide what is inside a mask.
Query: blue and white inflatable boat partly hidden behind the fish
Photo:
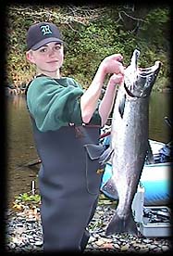
[[[110,135],[105,137],[105,145],[109,144]],[[172,143],[165,144],[163,142],[149,139],[152,148],[154,163],[148,163],[145,160],[142,176],[139,186],[144,188],[144,206],[167,206],[170,204],[170,171],[172,161],[168,157]],[[168,150],[168,152],[166,152]],[[107,198],[117,200],[111,188],[107,189],[106,182],[112,176],[112,164],[108,161],[105,164],[105,172],[103,174],[100,191]]]

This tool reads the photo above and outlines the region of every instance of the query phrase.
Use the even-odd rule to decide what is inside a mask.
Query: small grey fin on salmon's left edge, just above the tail
[[[115,200],[118,199],[117,187],[112,178],[109,178],[105,185],[100,188],[100,190],[105,194],[106,197]]]

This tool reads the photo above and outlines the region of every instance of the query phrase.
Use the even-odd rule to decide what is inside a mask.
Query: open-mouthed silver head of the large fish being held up
[[[155,61],[149,68],[139,68],[140,51],[135,49],[130,60],[130,66],[124,71],[124,87],[129,96],[149,96],[155,79],[161,67],[160,61]]]

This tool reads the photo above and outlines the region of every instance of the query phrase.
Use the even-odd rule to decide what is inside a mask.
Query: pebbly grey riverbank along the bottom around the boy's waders
[[[91,252],[160,252],[172,250],[170,237],[134,237],[115,234],[105,237],[105,227],[114,214],[110,205],[98,205],[89,226],[91,237],[84,253]],[[6,252],[43,252],[40,208],[6,211]]]

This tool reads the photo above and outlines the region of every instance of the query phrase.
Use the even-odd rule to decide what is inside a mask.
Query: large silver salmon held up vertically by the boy
[[[131,204],[140,182],[148,148],[149,96],[161,67],[160,61],[146,69],[138,68],[140,51],[135,49],[119,85],[111,123],[110,151],[112,177],[106,186],[115,189],[117,209],[105,235],[137,235]]]

